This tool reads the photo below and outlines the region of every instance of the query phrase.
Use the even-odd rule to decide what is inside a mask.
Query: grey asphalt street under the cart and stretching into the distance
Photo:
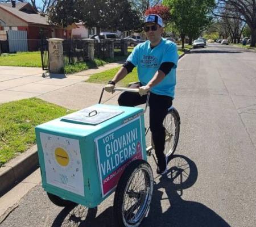
[[[237,226],[256,224],[256,53],[208,45],[181,58],[174,106],[180,139],[170,169],[156,175],[151,209],[141,226]],[[147,118],[147,117],[146,117]],[[113,195],[97,208],[60,208],[40,185],[33,188],[1,227],[113,225]]]

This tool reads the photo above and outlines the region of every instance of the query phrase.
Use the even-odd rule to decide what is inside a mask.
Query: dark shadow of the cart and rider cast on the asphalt
[[[170,169],[166,176],[161,176],[154,185],[151,208],[141,226],[158,227],[228,227],[230,226],[212,209],[195,201],[181,198],[183,190],[195,184],[197,167],[191,159],[183,155],[174,155],[168,163]],[[163,190],[167,197],[163,197]],[[170,207],[163,212],[161,201],[169,200]],[[97,208],[88,209],[82,205],[64,208],[56,217],[52,227],[65,226],[102,226],[113,227],[115,216],[113,207],[109,207],[96,217]]]

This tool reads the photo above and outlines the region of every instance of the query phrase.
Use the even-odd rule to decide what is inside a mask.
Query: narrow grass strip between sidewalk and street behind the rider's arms
[[[178,51],[179,56],[183,53],[184,52],[181,50]],[[90,78],[86,82],[106,84],[106,83],[108,83],[108,81],[113,79],[115,73],[117,73],[119,69],[120,69],[120,67],[117,67],[114,69],[106,70],[102,73],[93,74],[90,76]],[[127,75],[127,77],[123,78],[122,81],[119,81],[117,86],[127,87],[129,85],[129,83],[137,82],[137,81],[138,81],[137,68],[134,68],[133,72],[129,73],[129,75]]]

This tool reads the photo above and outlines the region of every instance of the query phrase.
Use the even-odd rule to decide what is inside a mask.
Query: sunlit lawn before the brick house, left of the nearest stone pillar
[[[42,67],[41,54],[40,51],[2,53],[0,56],[0,65]]]

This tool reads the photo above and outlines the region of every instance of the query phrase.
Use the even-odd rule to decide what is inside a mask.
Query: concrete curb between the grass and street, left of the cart
[[[0,196],[9,191],[15,184],[26,178],[39,167],[38,150],[34,145],[26,152],[12,159],[0,168]]]

